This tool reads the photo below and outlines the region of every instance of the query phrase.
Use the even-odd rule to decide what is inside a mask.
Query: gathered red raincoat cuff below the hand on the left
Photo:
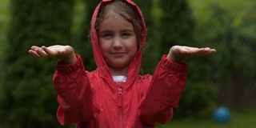
[[[63,65],[58,60],[57,66],[56,66],[57,71],[63,74],[70,74],[70,73],[74,73],[79,68],[84,68],[81,56],[79,54],[76,54],[75,56],[77,57],[77,61],[70,65]]]

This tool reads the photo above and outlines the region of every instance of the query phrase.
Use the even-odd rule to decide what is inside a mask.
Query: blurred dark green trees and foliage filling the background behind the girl
[[[27,50],[33,45],[74,46],[86,70],[94,70],[89,32],[98,2],[0,0],[0,127],[62,127],[52,86],[56,60],[34,58]],[[153,74],[162,54],[174,45],[218,51],[185,60],[188,82],[174,118],[211,118],[217,106],[255,108],[256,1],[134,2],[148,30],[141,74]]]

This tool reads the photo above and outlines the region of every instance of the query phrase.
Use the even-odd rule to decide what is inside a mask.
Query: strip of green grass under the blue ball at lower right
[[[230,122],[217,123],[213,118],[182,120],[170,120],[166,125],[158,125],[157,128],[255,128],[256,110],[242,110],[231,112]]]

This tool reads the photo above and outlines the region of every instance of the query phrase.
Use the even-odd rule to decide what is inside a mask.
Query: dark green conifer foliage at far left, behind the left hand
[[[0,123],[6,127],[58,127],[52,85],[55,60],[34,58],[30,46],[67,44],[72,1],[10,2],[7,42],[2,43]]]

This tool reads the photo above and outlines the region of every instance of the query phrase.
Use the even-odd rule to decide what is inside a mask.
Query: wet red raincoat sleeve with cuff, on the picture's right
[[[173,116],[173,108],[178,107],[182,90],[186,86],[186,71],[188,66],[171,62],[164,55],[154,72],[140,106],[142,121],[150,125],[157,122],[166,124]]]

